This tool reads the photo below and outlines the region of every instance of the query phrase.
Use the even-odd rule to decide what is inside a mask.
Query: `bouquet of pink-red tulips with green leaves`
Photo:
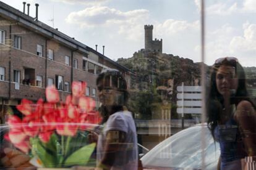
[[[85,97],[85,82],[72,83],[72,95],[60,103],[56,87],[46,88],[46,100],[23,99],[17,109],[23,118],[9,115],[5,139],[43,167],[85,166],[95,149],[88,133],[101,117],[95,100]]]

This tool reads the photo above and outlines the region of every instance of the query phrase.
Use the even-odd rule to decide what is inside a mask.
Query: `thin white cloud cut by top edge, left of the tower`
[[[55,2],[62,2],[65,4],[83,4],[86,6],[98,6],[101,4],[105,4],[110,0],[51,0]]]

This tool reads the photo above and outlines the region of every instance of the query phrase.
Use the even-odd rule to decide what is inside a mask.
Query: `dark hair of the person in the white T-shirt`
[[[106,108],[105,105],[101,105],[100,113],[103,116],[102,123],[105,123],[108,120],[108,117],[117,111],[124,110],[124,106],[127,107],[126,103],[129,97],[129,93],[127,91],[127,83],[122,73],[115,69],[105,69],[101,71],[96,79],[96,84],[100,84],[101,81],[104,81],[105,86],[114,87],[117,91],[121,92],[117,97],[118,100],[114,105],[111,106],[111,109]],[[101,91],[102,89],[98,89]]]

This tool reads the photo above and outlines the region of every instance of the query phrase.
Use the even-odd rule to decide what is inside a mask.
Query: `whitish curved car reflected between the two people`
[[[202,140],[205,147],[202,147]],[[143,169],[217,169],[219,157],[220,146],[213,140],[207,125],[198,124],[164,140],[140,160]]]

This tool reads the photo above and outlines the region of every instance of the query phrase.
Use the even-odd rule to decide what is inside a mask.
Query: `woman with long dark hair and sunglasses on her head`
[[[208,127],[221,148],[219,168],[241,169],[242,158],[256,156],[256,116],[236,58],[215,61],[207,104]]]

